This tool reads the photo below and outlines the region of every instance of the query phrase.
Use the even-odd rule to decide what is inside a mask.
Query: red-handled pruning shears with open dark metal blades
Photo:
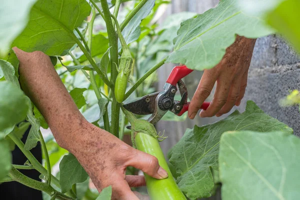
[[[168,110],[181,116],[188,110],[189,106],[189,102],[187,102],[187,89],[181,79],[192,71],[192,69],[187,68],[185,65],[175,66],[163,86],[163,91],[147,94],[138,100],[124,104],[123,107],[134,114],[151,114],[148,121],[153,125]],[[178,85],[178,89],[176,84]],[[180,101],[174,100],[177,90],[179,90],[181,95]],[[210,102],[203,102],[200,108],[206,109],[209,104]]]

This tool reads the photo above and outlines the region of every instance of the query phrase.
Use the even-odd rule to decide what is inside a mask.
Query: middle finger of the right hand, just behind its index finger
[[[226,76],[217,80],[216,89],[213,99],[206,110],[201,110],[200,117],[214,116],[226,103],[231,80],[228,80]]]

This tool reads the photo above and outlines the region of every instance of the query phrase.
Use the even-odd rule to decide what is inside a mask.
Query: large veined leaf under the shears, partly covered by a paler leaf
[[[211,168],[218,170],[220,136],[229,130],[292,133],[290,127],[265,114],[253,101],[247,101],[243,113],[236,110],[216,123],[187,129],[169,152],[169,161],[178,174],[176,182],[187,197],[196,199],[211,195],[214,186]]]

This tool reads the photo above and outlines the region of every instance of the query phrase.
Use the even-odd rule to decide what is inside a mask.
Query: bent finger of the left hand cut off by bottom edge
[[[128,183],[124,179],[118,179],[112,185],[113,198],[118,200],[138,200],[137,196],[131,191]],[[112,199],[113,199],[112,198]]]

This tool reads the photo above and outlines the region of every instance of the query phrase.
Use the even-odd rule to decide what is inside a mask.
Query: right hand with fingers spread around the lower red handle
[[[226,49],[222,60],[213,68],[205,69],[188,107],[188,117],[193,119],[216,81],[213,99],[200,117],[221,116],[239,105],[247,85],[248,69],[256,39],[236,36]]]

